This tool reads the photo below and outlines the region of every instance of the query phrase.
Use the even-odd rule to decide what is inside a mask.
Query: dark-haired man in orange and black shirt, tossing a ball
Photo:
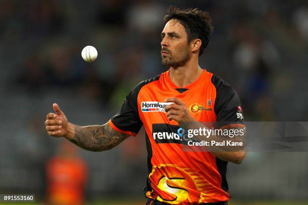
[[[219,122],[223,130],[245,127],[238,94],[198,65],[213,30],[208,13],[170,8],[164,20],[161,55],[167,72],[140,82],[126,96],[120,112],[102,126],[68,123],[53,104],[56,114],[47,115],[47,133],[87,150],[104,151],[135,136],[144,125],[147,204],[227,204],[227,161],[241,163],[246,150],[217,151],[210,149],[213,145],[210,152],[184,151],[179,136],[190,126],[206,128],[199,122]]]

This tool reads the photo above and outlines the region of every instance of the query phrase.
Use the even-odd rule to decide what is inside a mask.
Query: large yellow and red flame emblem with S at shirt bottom
[[[212,186],[194,169],[180,168],[173,164],[153,166],[149,174],[152,191],[146,196],[169,204],[206,202]]]

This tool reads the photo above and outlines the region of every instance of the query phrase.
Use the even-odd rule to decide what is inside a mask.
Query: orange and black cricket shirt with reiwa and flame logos
[[[133,136],[144,125],[148,153],[146,197],[170,204],[227,201],[227,162],[211,152],[183,151],[176,135],[180,127],[168,120],[165,99],[179,98],[198,122],[241,122],[239,96],[229,84],[206,70],[185,88],[174,84],[169,72],[140,82],[109,124]]]

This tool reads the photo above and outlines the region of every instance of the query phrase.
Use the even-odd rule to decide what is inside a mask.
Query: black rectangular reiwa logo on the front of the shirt
[[[152,136],[156,143],[182,143],[185,130],[176,125],[153,124]]]

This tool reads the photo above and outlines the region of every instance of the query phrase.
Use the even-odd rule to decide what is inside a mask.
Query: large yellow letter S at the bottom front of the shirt
[[[168,192],[172,195],[175,195],[173,199],[167,199],[163,198],[163,196],[159,195],[157,199],[159,201],[168,201],[170,204],[178,204],[182,201],[186,200],[189,193],[186,189],[177,187],[177,185],[183,184],[185,178],[167,178],[166,176],[163,176],[159,180],[158,188],[161,189],[164,192]]]

